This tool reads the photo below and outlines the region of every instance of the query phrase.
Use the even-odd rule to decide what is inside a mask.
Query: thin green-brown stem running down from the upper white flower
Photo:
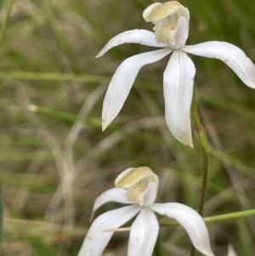
[[[198,141],[201,145],[202,151],[202,184],[201,184],[201,196],[199,202],[198,213],[203,215],[203,209],[206,201],[206,194],[207,194],[207,180],[208,180],[208,169],[209,169],[209,146],[207,142],[207,135],[205,130],[201,124],[201,120],[198,114],[196,99],[195,99],[195,91],[193,94],[193,100],[191,104],[191,115],[192,120],[195,126],[195,131],[198,135]],[[193,256],[195,253],[195,248],[192,247],[190,256]]]

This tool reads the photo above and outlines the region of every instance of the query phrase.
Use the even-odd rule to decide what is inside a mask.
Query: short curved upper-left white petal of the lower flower
[[[127,197],[125,195],[126,190],[116,188],[110,189],[102,193],[100,196],[97,197],[94,202],[91,219],[93,219],[94,217],[94,212],[106,202],[130,203],[127,201]]]

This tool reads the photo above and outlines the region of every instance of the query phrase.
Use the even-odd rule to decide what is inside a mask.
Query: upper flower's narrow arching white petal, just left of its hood
[[[101,49],[96,58],[103,56],[111,48],[114,48],[123,43],[139,43],[160,48],[168,47],[165,43],[157,43],[153,32],[145,31],[142,29],[135,29],[132,31],[122,32],[121,34],[116,35],[116,37],[112,37],[111,40],[106,43],[105,47]]]

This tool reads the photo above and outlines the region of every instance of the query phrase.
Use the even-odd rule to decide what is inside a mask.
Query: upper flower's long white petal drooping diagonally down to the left
[[[121,111],[141,67],[161,60],[171,52],[171,49],[165,48],[149,53],[138,54],[124,60],[122,64],[119,65],[105,94],[102,113],[103,131],[109,126],[119,111]]]

